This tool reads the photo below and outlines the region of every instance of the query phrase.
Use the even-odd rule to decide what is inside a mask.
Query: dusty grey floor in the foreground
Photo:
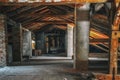
[[[0,68],[0,80],[91,80],[81,79],[72,68],[72,63],[9,66]]]

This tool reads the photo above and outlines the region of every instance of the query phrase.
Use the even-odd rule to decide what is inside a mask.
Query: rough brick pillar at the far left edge
[[[0,14],[0,67],[6,66],[5,16]]]

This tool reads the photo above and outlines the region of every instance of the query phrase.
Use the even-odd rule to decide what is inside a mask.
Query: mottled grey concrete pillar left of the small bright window
[[[29,30],[23,32],[23,56],[32,57],[32,38]]]

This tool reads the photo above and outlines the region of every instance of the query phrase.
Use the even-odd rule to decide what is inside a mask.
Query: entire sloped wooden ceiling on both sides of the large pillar
[[[101,7],[95,12],[95,5],[97,4],[91,6],[91,9],[94,9],[94,15],[92,14],[91,17],[90,38],[109,38],[110,25],[106,15],[106,8],[103,6],[105,9]],[[12,20],[21,23],[23,27],[34,32],[49,24],[63,30],[67,29],[65,24],[75,22],[74,10],[74,4],[0,6],[0,13],[7,15]]]

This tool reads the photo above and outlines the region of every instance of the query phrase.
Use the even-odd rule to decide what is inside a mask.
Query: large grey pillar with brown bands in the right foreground
[[[77,7],[76,16],[76,69],[79,71],[88,70],[89,53],[89,5]]]

